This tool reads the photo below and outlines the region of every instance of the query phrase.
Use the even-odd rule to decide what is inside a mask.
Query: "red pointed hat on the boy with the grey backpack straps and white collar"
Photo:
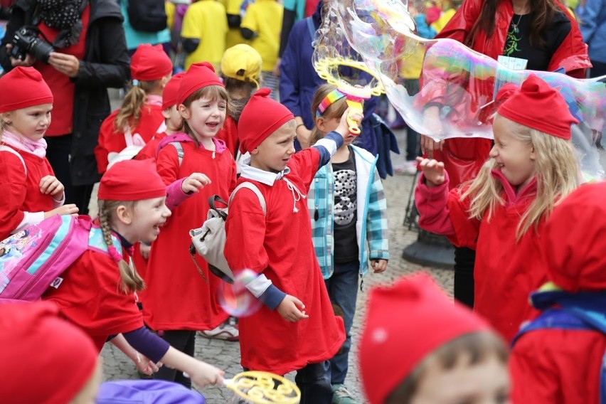
[[[294,119],[287,107],[269,97],[271,92],[265,87],[255,92],[240,114],[238,138],[243,153],[254,150],[276,129]]]

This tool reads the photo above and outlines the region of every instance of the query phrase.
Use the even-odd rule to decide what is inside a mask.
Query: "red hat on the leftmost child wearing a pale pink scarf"
[[[53,93],[35,68],[18,66],[0,78],[0,112],[52,104]]]

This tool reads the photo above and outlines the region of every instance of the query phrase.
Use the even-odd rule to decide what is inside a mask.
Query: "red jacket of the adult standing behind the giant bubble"
[[[456,14],[452,16],[450,21],[444,27],[436,38],[450,38],[455,41],[464,43],[467,35],[472,29],[474,23],[479,18],[480,11],[484,0],[465,0],[462,6],[459,8]],[[566,16],[570,17],[570,14],[565,7],[556,1],[556,4],[565,13]],[[511,18],[514,16],[514,9],[511,5],[510,0],[501,0],[497,5],[496,18],[495,18],[495,30],[493,35],[488,38],[484,31],[479,30],[474,43],[470,46],[473,50],[476,50],[483,55],[489,56],[489,58],[496,58],[503,54],[507,31]],[[581,36],[578,23],[570,18],[570,33],[565,40],[560,44],[558,50],[555,51],[549,63],[548,70],[554,71],[558,68],[564,68],[566,74],[574,78],[584,78],[585,69],[590,68],[591,63],[588,56],[588,47],[583,43],[583,36]],[[422,80],[427,80],[427,75],[431,75],[431,71],[423,70]],[[479,77],[479,75],[478,75]],[[474,98],[482,98],[482,100],[472,100],[471,105],[469,100],[467,102],[462,100],[459,105],[462,107],[462,111],[459,111],[464,117],[469,119],[469,114],[477,115],[477,107],[485,105],[487,102],[492,100],[493,92],[493,80],[481,80],[479,78],[474,79],[473,83],[467,83],[466,88],[472,88],[469,91],[471,94],[474,92]],[[422,86],[421,92],[424,92]],[[437,86],[442,92],[436,94],[431,91],[428,95],[422,96],[423,102],[432,102],[440,97],[445,97],[444,90],[445,85]],[[427,90],[425,90],[427,92]],[[462,95],[464,98],[466,95]],[[467,95],[468,96],[468,95]],[[475,117],[475,116],[474,116]],[[477,119],[477,117],[475,117]],[[482,122],[486,122],[485,119],[479,117]],[[484,161],[488,158],[488,154],[491,148],[490,139],[463,139],[453,138],[447,139],[442,147],[442,151],[436,151],[434,158],[439,161],[444,161],[445,168],[450,174],[450,187],[454,188],[462,182],[469,179],[474,179],[479,172],[480,167],[484,164]]]

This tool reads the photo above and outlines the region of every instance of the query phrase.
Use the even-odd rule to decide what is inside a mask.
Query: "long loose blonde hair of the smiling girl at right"
[[[553,211],[553,207],[568,193],[574,191],[579,184],[579,171],[575,152],[569,141],[509,119],[508,121],[514,138],[531,144],[536,156],[536,197],[518,223],[516,240],[519,241],[531,226],[536,230],[541,220]],[[494,159],[488,159],[478,176],[470,182],[469,188],[462,194],[461,199],[471,198],[469,205],[471,218],[482,220],[484,213],[488,211],[487,220],[490,220],[496,206],[505,203],[501,196],[503,185],[490,173],[497,167],[498,164]]]

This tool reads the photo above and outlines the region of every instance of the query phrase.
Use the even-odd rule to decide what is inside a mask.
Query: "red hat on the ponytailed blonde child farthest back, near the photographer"
[[[137,47],[130,60],[130,74],[133,80],[160,80],[171,74],[173,63],[161,45],[143,43]]]

